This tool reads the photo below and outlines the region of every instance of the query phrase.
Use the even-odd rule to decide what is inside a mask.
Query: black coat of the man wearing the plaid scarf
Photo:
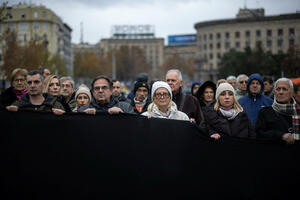
[[[260,138],[281,139],[283,134],[292,132],[292,127],[292,116],[282,115],[269,106],[259,111],[255,131]]]

